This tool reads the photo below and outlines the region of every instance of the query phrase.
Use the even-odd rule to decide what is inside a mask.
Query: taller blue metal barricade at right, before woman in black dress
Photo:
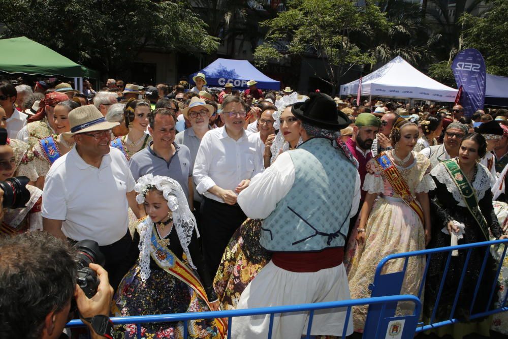
[[[383,260],[381,260],[379,262],[379,264],[377,265],[375,276],[374,276],[374,281],[369,286],[369,289],[372,291],[371,297],[399,295],[401,293],[401,289],[403,287],[404,277],[405,277],[409,258],[417,257],[417,256],[426,256],[425,270],[424,270],[423,278],[420,282],[420,287],[419,287],[419,291],[418,291],[418,295],[417,295],[417,297],[420,299],[422,304],[424,304],[424,300],[422,300],[422,296],[424,294],[424,286],[425,286],[425,282],[426,282],[427,275],[429,272],[429,265],[430,265],[432,256],[436,255],[438,253],[448,253],[448,255],[446,256],[446,262],[444,262],[444,271],[443,271],[442,276],[440,278],[439,289],[437,292],[437,297],[436,297],[435,303],[432,307],[432,313],[430,315],[430,319],[428,319],[428,321],[426,321],[428,323],[420,322],[418,324],[416,332],[422,332],[422,331],[429,330],[432,328],[458,323],[458,322],[460,322],[460,319],[457,319],[455,313],[457,310],[457,304],[459,302],[460,292],[463,289],[463,282],[464,282],[464,278],[466,276],[468,264],[470,263],[471,253],[472,253],[472,251],[484,251],[485,252],[484,254],[482,252],[482,256],[483,256],[482,266],[479,269],[478,280],[475,282],[474,293],[472,295],[471,305],[469,306],[468,319],[473,320],[473,319],[486,317],[486,316],[489,316],[489,315],[492,315],[495,313],[506,312],[506,311],[508,311],[508,307],[506,305],[506,298],[508,297],[508,293],[506,293],[504,295],[502,300],[499,300],[498,307],[490,307],[490,306],[491,306],[491,303],[492,303],[492,300],[494,297],[494,293],[496,293],[496,286],[497,286],[497,282],[498,282],[498,277],[499,277],[501,268],[503,266],[503,261],[506,256],[507,247],[508,247],[508,239],[503,239],[503,240],[483,241],[483,242],[477,242],[477,243],[471,243],[471,244],[456,245],[456,246],[449,246],[449,247],[444,247],[444,248],[436,248],[436,249],[429,249],[429,250],[422,250],[422,251],[414,251],[414,252],[389,255],[389,256],[383,258]],[[497,262],[496,262],[497,266],[496,266],[495,278],[493,281],[487,282],[486,283],[487,286],[481,286],[482,280],[483,280],[485,272],[486,272],[487,261],[488,261],[489,256],[491,255],[491,250],[494,250],[494,251],[492,251],[492,253],[497,253],[497,257],[498,257]],[[452,307],[450,310],[450,315],[449,315],[448,319],[444,319],[444,320],[441,319],[441,320],[436,321],[436,311],[438,310],[439,301],[442,296],[443,287],[445,286],[446,277],[447,277],[449,269],[450,269],[450,264],[451,264],[452,260],[456,260],[454,258],[457,258],[457,257],[452,258],[453,251],[459,251],[459,252],[466,251],[465,252],[466,253],[465,254],[465,261],[464,261],[463,267],[461,267],[460,272],[459,272],[460,280],[458,282],[458,285],[456,286],[455,297],[453,298],[453,304],[452,304]],[[464,252],[462,252],[462,256],[463,255],[464,255]],[[382,274],[384,267],[391,260],[404,260],[403,270],[399,271],[399,272],[391,272],[391,273]],[[490,291],[488,293],[489,298],[486,303],[485,310],[483,310],[482,312],[473,312],[473,308],[474,308],[474,306],[476,306],[475,302],[477,301],[477,297],[478,297],[480,288],[489,289],[489,291]],[[390,312],[395,312],[395,308],[396,308],[395,303],[388,303],[387,305],[384,305],[383,307],[385,307],[385,306],[387,309],[390,310]],[[424,305],[424,306],[428,306],[428,305]],[[369,312],[367,314],[367,319],[365,322],[366,331],[364,332],[364,335],[367,334],[367,329],[372,328],[372,325],[378,321],[379,316],[380,316],[380,311],[381,310],[380,310],[379,305],[374,304],[374,305],[369,306]],[[381,312],[381,313],[385,313],[385,312],[386,312],[386,310],[383,310],[383,312]],[[364,337],[370,337],[370,336],[364,336]]]

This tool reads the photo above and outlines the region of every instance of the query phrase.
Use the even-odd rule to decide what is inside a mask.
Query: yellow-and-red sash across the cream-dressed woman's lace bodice
[[[415,211],[415,213],[422,221],[422,224],[425,225],[422,207],[420,207],[415,198],[411,195],[407,183],[404,181],[399,171],[397,170],[397,166],[395,166],[395,164],[386,155],[385,152],[381,152],[375,157],[375,159],[379,165],[379,168],[381,169],[383,177],[388,180],[393,191],[402,198],[407,206],[411,207],[411,209]]]

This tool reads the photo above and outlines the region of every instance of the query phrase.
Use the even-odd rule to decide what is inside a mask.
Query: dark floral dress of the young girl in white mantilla
[[[153,227],[153,232],[157,232],[156,227]],[[140,235],[136,230],[134,243],[139,243],[139,240]],[[161,243],[168,241],[167,248],[183,261],[188,266],[187,268],[192,270],[187,262],[182,260],[184,250],[174,226],[164,239],[160,239]],[[139,255],[139,249],[137,246],[135,247],[136,250],[132,251],[133,257]],[[196,229],[190,238],[188,251],[197,267],[198,276],[201,277],[208,299],[210,301],[216,300],[208,269],[199,249]],[[210,311],[206,302],[193,288],[166,272],[151,257],[148,279],[144,282],[141,279],[141,265],[138,259],[120,282],[112,304],[112,313],[116,317],[206,311]],[[181,321],[147,323],[141,326],[142,338],[177,339],[183,337],[183,322]],[[187,328],[189,338],[218,339],[223,337],[216,327],[216,320],[213,319],[190,320]],[[119,326],[118,330],[123,331],[125,339],[137,337],[135,324]]]

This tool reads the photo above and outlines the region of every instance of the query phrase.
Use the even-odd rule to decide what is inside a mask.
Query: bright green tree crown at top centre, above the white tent
[[[332,87],[353,66],[374,63],[371,51],[362,49],[358,39],[369,39],[375,30],[389,26],[371,1],[357,6],[354,0],[294,0],[287,7],[261,23],[268,32],[265,44],[256,49],[256,64],[264,66],[284,56],[314,56],[326,70],[322,80]]]

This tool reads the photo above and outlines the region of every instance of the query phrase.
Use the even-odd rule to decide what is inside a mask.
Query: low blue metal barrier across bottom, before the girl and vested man
[[[415,304],[415,312],[409,316],[394,317],[392,313],[389,314],[386,305],[388,303],[397,302],[411,302]],[[312,318],[314,311],[335,309],[335,308],[346,308],[347,313],[345,317],[344,329],[341,336],[345,338],[347,333],[347,323],[351,316],[351,309],[353,306],[358,305],[379,305],[380,313],[378,322],[375,324],[375,328],[371,328],[369,339],[385,339],[388,333],[391,333],[391,337],[396,336],[400,339],[412,339],[415,335],[415,329],[418,324],[418,317],[422,310],[422,304],[420,300],[413,295],[394,295],[389,297],[378,297],[378,298],[365,298],[356,300],[341,300],[341,301],[329,301],[319,303],[308,303],[299,305],[287,305],[287,306],[275,306],[275,307],[260,307],[258,309],[245,309],[245,310],[230,310],[230,311],[215,311],[215,312],[196,312],[196,313],[177,313],[177,314],[165,314],[165,315],[152,315],[152,316],[137,316],[137,317],[119,317],[111,318],[115,325],[124,324],[136,324],[138,338],[141,338],[141,326],[143,323],[158,323],[158,322],[177,322],[183,321],[184,338],[187,338],[187,322],[189,320],[196,319],[215,319],[215,318],[227,318],[229,324],[228,339],[231,338],[231,328],[234,326],[233,318],[242,316],[253,316],[253,315],[270,315],[270,330],[268,333],[268,339],[272,337],[272,325],[275,314],[279,313],[291,313],[291,312],[302,312],[309,311],[309,320],[307,326],[306,338],[311,338],[310,331],[312,327]],[[83,327],[84,324],[81,320],[72,320],[67,324],[67,327]],[[367,337],[367,336],[365,336]]]

